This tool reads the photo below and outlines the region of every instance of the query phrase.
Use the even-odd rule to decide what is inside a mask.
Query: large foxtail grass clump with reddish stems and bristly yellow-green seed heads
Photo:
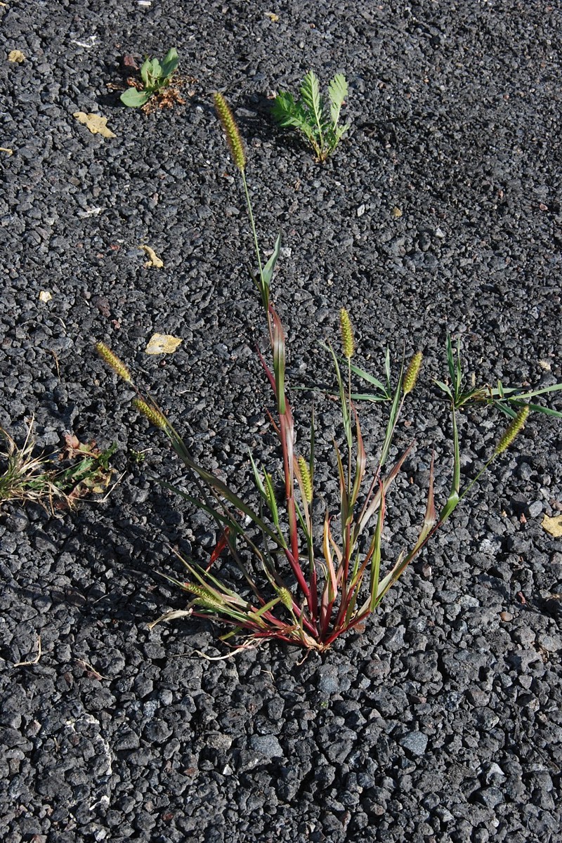
[[[133,401],[136,410],[167,436],[188,470],[194,491],[165,485],[206,513],[214,522],[219,536],[205,565],[179,557],[185,566],[187,579],[166,578],[189,595],[189,604],[186,609],[163,615],[154,623],[197,615],[220,620],[229,626],[230,631],[222,636],[223,641],[229,641],[237,634],[245,636],[241,645],[243,648],[268,639],[277,639],[307,650],[324,652],[336,638],[361,624],[377,609],[388,589],[451,516],[482,471],[511,445],[527,416],[535,409],[527,400],[538,392],[521,393],[515,390],[513,399],[508,401],[508,390],[498,387],[497,396],[492,390],[492,398],[506,404],[511,423],[500,436],[479,475],[461,489],[455,413],[461,399],[465,403],[469,399],[462,390],[460,359],[453,359],[449,343],[452,384],[442,384],[442,389],[452,399],[454,459],[451,488],[447,501],[438,509],[433,491],[434,460],[431,458],[426,514],[417,540],[410,550],[404,550],[398,559],[390,563],[389,570],[383,570],[387,567],[383,559],[382,535],[388,494],[413,446],[410,445],[399,454],[393,464],[388,465],[388,456],[404,402],[409,400],[409,395],[415,389],[422,356],[416,352],[407,366],[404,366],[403,361],[398,377],[393,377],[387,352],[384,362],[385,381],[365,373],[351,362],[356,354],[356,343],[350,315],[347,310],[341,309],[342,356],[330,344],[325,346],[334,364],[342,418],[342,442],[334,443],[340,494],[336,512],[330,513],[327,510],[323,523],[318,524],[319,529],[315,529],[314,420],[308,444],[305,447],[299,444],[297,448],[297,432],[286,387],[285,331],[271,299],[271,279],[281,241],[277,238],[273,255],[269,260],[263,260],[246,183],[246,155],[238,126],[222,94],[215,94],[215,106],[233,162],[241,175],[254,239],[258,271],[253,280],[260,294],[270,346],[269,360],[261,353],[260,360],[276,405],[275,416],[271,414],[270,419],[281,450],[281,502],[276,494],[274,477],[265,467],[260,466],[254,454],[250,454],[249,461],[257,507],[240,497],[216,474],[198,464],[184,439],[155,401],[149,395],[142,395],[132,384],[128,368],[103,343],[98,343],[96,349],[115,373],[136,389],[137,395]],[[381,401],[389,407],[386,433],[374,469],[367,468],[367,451],[361,436],[355,394],[351,388],[352,377],[357,375],[360,378],[364,376],[375,387],[370,400]],[[549,389],[562,389],[562,384]],[[556,411],[553,413],[556,414]],[[233,577],[232,573],[228,575],[228,563],[221,563],[220,560],[225,550],[228,551],[230,561],[238,567],[241,577]],[[241,578],[245,583],[242,587],[239,584]]]

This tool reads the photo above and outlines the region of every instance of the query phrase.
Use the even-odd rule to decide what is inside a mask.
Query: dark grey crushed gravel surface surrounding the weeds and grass
[[[431,385],[447,332],[479,383],[562,380],[559,3],[7,0],[0,19],[0,426],[21,443],[35,416],[49,452],[65,433],[115,442],[120,476],[72,512],[0,512],[2,839],[559,843],[562,540],[542,526],[562,511],[559,420],[531,417],[364,631],[304,661],[282,644],[207,661],[195,651],[225,652],[217,626],[147,625],[185,605],[158,576],[178,574],[170,546],[205,558],[212,527],[154,481],[178,464],[93,352],[114,348],[238,489],[249,448],[275,468],[222,91],[264,249],[282,234],[289,384],[332,384],[320,343],[341,306],[378,376],[387,344],[424,352],[391,561],[423,516],[431,448],[437,495],[450,477]],[[185,103],[121,105],[125,57],[170,46]],[[350,83],[351,130],[324,166],[269,113],[309,68]],[[179,349],[148,357],[155,332]],[[305,443],[310,394],[293,398]],[[376,454],[384,411],[360,410]],[[340,424],[328,399],[315,411],[318,497],[333,500]],[[463,417],[467,477],[503,425]]]

